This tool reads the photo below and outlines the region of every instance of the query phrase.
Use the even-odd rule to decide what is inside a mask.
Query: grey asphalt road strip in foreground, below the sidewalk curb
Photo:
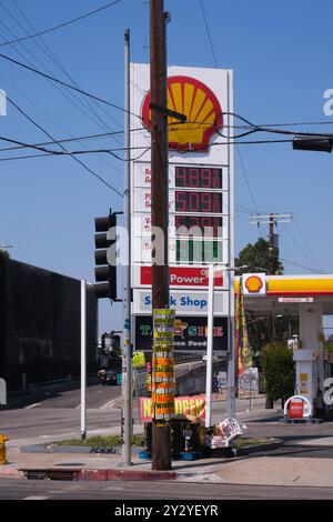
[[[54,482],[0,479],[7,500],[285,500],[333,499],[332,488],[275,488],[180,482]],[[133,505],[133,503],[131,504]],[[223,504],[222,504],[223,505]]]

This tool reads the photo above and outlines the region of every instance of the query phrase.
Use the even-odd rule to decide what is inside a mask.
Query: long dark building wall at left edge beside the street
[[[0,377],[8,391],[80,374],[80,281],[0,255]],[[87,364],[97,368],[98,305],[87,295]]]

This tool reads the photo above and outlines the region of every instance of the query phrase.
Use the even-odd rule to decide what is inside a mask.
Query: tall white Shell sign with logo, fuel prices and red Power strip
[[[138,159],[131,163],[131,265],[134,303],[140,290],[151,289],[151,165],[150,67],[131,64],[131,107],[143,128],[131,135]],[[233,74],[230,70],[168,68],[168,109],[183,114],[181,122],[170,112],[169,129],[169,264],[171,290],[195,292],[206,299],[208,265],[233,264]],[[140,126],[139,126],[140,127]],[[132,117],[131,128],[138,128]],[[142,153],[143,151],[143,153]],[[140,155],[141,154],[141,155]],[[139,158],[140,157],[140,158]],[[232,229],[230,223],[232,222]],[[225,280],[224,280],[225,279]],[[216,278],[215,292],[226,297],[229,278]],[[202,299],[200,294],[202,293]],[[228,299],[219,301],[216,317],[225,317]],[[181,301],[180,301],[181,302]],[[135,317],[151,314],[133,305],[133,339],[140,335]],[[142,313],[143,312],[143,313]],[[181,312],[181,310],[176,310]],[[196,319],[195,308],[188,310]],[[143,340],[142,340],[143,341]]]

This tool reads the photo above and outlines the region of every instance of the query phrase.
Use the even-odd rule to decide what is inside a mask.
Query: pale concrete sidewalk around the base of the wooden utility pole
[[[248,416],[242,415],[243,420]],[[264,415],[262,415],[264,424]],[[261,422],[260,413],[252,422]],[[119,428],[113,429],[120,431]],[[134,432],[142,432],[135,425]],[[102,432],[100,432],[102,434]],[[108,432],[110,434],[110,430]],[[63,434],[54,439],[70,438]],[[121,465],[119,454],[88,453],[23,453],[24,445],[41,443],[41,438],[12,440],[7,443],[8,464],[0,466],[0,479],[22,478],[22,470],[75,470],[81,480],[175,480],[196,483],[228,483],[276,486],[319,486],[333,488],[333,459],[315,456],[294,456],[292,453],[265,451],[234,459],[210,458],[195,461],[174,460],[172,470],[167,472],[152,471],[151,461],[139,459],[133,451],[131,466]],[[47,441],[44,441],[47,442]],[[302,443],[309,448],[333,445],[333,436],[313,436]]]

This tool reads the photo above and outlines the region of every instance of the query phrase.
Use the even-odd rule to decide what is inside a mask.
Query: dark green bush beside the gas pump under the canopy
[[[283,406],[295,387],[292,351],[281,342],[266,344],[261,352],[261,364],[268,401],[281,399]]]

